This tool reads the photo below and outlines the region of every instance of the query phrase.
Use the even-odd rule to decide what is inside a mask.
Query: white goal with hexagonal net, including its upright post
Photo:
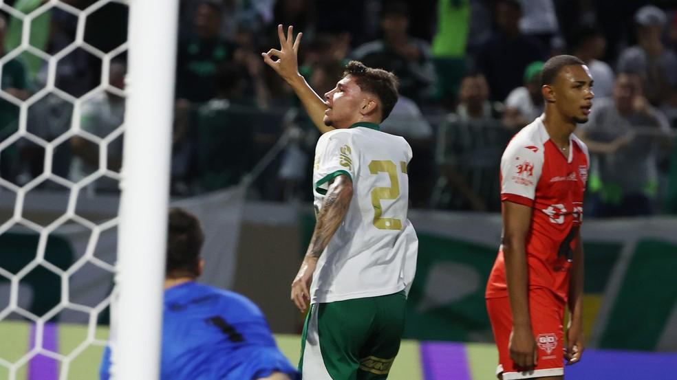
[[[0,0],[0,379],[158,377],[176,5]]]

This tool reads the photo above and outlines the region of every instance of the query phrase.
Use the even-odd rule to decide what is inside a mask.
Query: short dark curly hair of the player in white
[[[362,91],[376,95],[381,103],[381,122],[390,115],[395,107],[399,93],[398,79],[395,74],[384,69],[367,67],[357,60],[345,65],[343,77],[352,76]]]

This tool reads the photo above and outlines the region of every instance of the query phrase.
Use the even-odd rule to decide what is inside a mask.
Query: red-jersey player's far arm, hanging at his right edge
[[[583,243],[581,232],[576,236],[571,278],[569,280],[569,326],[566,331],[564,357],[567,364],[576,364],[583,355]]]

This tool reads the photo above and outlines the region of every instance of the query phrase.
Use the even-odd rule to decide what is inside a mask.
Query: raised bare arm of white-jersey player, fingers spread
[[[272,69],[292,87],[294,93],[301,99],[303,108],[308,112],[310,119],[320,132],[325,133],[327,131],[332,131],[334,128],[326,126],[323,121],[324,113],[327,111],[327,104],[319,95],[317,95],[312,87],[308,85],[305,78],[299,74],[299,62],[297,57],[303,33],[299,33],[294,41],[293,32],[294,27],[290,25],[287,30],[287,36],[285,36],[282,30],[282,24],[277,25],[277,34],[280,38],[280,49],[270,49],[267,53],[261,53],[261,56],[264,57],[264,62],[272,67]],[[277,60],[273,60],[272,57],[277,57]]]

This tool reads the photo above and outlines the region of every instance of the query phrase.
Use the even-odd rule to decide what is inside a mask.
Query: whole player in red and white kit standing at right
[[[574,364],[583,353],[580,227],[590,159],[573,131],[588,121],[592,78],[579,58],[555,56],[541,82],[544,115],[501,159],[503,238],[486,306],[503,380],[563,379],[564,359]]]

